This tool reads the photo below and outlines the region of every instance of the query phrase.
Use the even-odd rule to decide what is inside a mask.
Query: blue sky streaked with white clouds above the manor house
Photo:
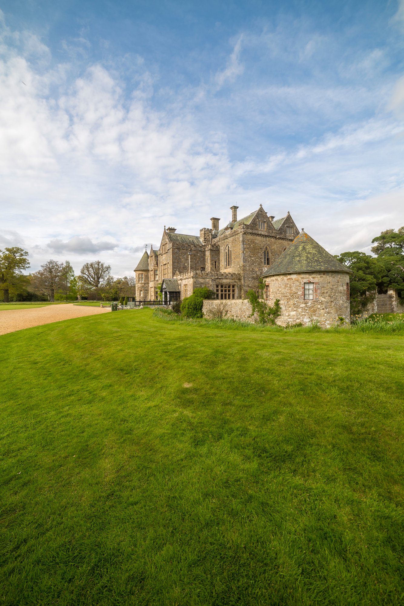
[[[404,0],[0,0],[0,247],[128,275],[164,225],[404,224]]]

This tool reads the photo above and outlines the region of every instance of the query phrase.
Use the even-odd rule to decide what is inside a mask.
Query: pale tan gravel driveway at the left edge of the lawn
[[[108,313],[110,307],[84,307],[74,304],[46,305],[45,307],[33,309],[10,309],[0,311],[0,335],[13,333],[22,328],[31,328],[41,324],[81,318],[82,316],[93,316],[96,313]]]

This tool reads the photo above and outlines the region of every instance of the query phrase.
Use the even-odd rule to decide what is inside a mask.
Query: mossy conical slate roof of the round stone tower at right
[[[302,273],[306,271],[346,271],[352,273],[330,255],[316,240],[301,231],[292,244],[283,251],[279,259],[262,276],[277,276],[282,273]]]

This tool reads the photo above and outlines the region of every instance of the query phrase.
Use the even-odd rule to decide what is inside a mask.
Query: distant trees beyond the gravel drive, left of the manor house
[[[46,299],[118,301],[121,296],[136,296],[134,276],[115,278],[111,266],[102,261],[85,263],[78,276],[69,261],[50,259],[38,271],[24,274],[29,267],[28,252],[23,248],[0,250],[0,297],[5,303]]]

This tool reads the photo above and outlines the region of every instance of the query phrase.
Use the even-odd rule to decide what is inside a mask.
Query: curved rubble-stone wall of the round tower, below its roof
[[[311,300],[304,298],[305,282],[314,284],[314,298]],[[268,304],[273,305],[279,299],[282,313],[277,324],[281,326],[317,321],[326,328],[339,324],[339,317],[350,322],[348,273],[321,271],[268,276],[265,284]]]

